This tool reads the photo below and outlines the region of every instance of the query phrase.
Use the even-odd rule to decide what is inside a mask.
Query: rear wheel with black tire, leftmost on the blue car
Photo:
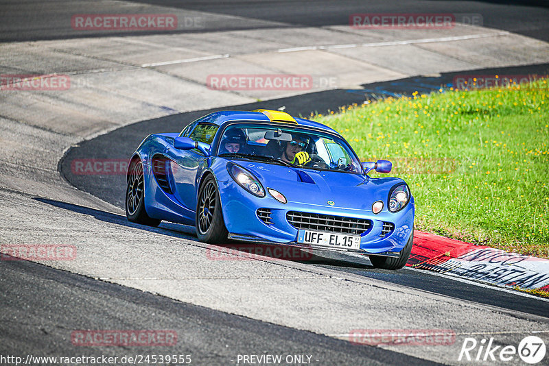
[[[145,175],[143,174],[143,163],[140,160],[132,160],[128,168],[125,206],[128,221],[155,227],[162,221],[152,219],[145,211]]]

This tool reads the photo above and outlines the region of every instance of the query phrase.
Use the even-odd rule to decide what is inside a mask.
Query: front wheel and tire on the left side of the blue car
[[[226,241],[229,232],[225,227],[218,184],[209,175],[198,193],[196,203],[196,236],[202,243]]]

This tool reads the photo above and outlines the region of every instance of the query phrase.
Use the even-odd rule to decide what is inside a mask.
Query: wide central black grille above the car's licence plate
[[[362,234],[372,226],[372,221],[368,219],[309,212],[289,211],[286,214],[286,219],[296,229],[341,232],[344,234]]]

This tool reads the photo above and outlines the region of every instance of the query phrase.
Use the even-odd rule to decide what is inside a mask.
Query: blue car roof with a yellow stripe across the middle
[[[286,112],[280,110],[221,110],[219,112],[213,112],[200,119],[200,122],[213,123],[216,125],[222,125],[224,123],[234,121],[258,121],[258,122],[272,122],[272,123],[288,123],[288,125],[298,125],[303,127],[313,127],[316,130],[323,130],[331,132],[332,134],[339,133],[336,130],[331,129],[327,125],[311,121],[309,119],[296,118],[290,116]]]

